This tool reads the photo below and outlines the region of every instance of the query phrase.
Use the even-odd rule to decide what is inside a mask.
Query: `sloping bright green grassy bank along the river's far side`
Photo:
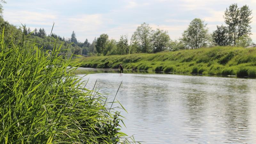
[[[159,52],[137,53],[101,57],[86,57],[80,60],[81,67],[118,68],[164,71],[166,73],[191,73],[209,75],[234,75],[256,77],[256,48],[221,47]]]

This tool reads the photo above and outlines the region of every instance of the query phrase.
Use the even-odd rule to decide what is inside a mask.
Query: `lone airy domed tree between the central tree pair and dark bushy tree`
[[[198,18],[192,20],[188,29],[183,32],[181,40],[188,49],[197,49],[207,46],[210,40],[208,29],[204,21]]]

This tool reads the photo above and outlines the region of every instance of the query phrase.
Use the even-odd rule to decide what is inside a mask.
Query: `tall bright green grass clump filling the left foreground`
[[[84,88],[53,44],[44,51],[24,35],[18,44],[1,35],[0,143],[123,143],[119,112]]]

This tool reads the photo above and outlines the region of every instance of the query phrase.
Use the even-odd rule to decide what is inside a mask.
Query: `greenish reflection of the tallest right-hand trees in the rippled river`
[[[250,118],[250,84],[243,83],[241,79],[229,79],[223,85],[228,95],[218,98],[220,118],[223,121],[220,127],[225,132],[223,138],[227,142],[250,141],[249,118]]]

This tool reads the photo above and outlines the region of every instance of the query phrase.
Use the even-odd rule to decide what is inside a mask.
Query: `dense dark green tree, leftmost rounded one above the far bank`
[[[101,34],[100,37],[97,38],[96,41],[96,50],[98,53],[106,55],[106,46],[108,44],[108,35],[107,34]]]

